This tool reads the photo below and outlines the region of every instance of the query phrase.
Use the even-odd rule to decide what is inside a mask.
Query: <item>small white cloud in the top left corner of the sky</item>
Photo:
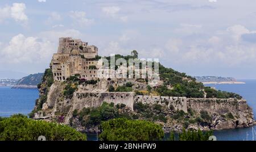
[[[25,23],[28,20],[25,10],[26,5],[24,3],[13,3],[12,6],[7,5],[0,8],[0,22],[8,18],[13,18],[16,22]]]

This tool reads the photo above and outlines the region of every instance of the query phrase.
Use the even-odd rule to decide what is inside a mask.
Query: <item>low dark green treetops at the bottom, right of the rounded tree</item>
[[[170,133],[170,141],[208,141],[209,137],[213,136],[213,131],[202,132],[200,129],[197,131],[183,129],[182,133],[178,133],[177,136],[173,132]],[[176,138],[175,138],[176,137]]]

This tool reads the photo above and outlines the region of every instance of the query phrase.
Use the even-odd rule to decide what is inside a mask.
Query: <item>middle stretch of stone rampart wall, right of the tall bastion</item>
[[[169,108],[172,105],[175,110],[183,110],[187,112],[187,98],[173,96],[135,96],[134,102],[142,102],[143,104],[161,104],[167,105]]]

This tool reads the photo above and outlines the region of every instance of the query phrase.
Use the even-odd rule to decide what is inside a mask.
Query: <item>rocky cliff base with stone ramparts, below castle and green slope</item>
[[[81,85],[75,82],[68,85],[67,82],[55,81],[49,85],[47,78],[45,79],[39,88],[40,98],[32,117],[72,125],[85,132],[94,131],[93,125],[83,123],[89,122],[92,114],[77,116],[74,112],[81,114],[85,108],[92,111],[104,102],[113,103],[114,108],[123,104],[125,108],[116,109],[118,116],[126,115],[131,119],[154,121],[162,124],[165,132],[181,131],[183,128],[233,129],[254,124],[253,111],[243,99],[137,95],[135,92],[98,90],[99,83]],[[71,94],[68,94],[72,89]],[[98,117],[100,119],[100,116]]]

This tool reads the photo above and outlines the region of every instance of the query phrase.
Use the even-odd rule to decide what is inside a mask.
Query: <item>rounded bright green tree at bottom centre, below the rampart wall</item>
[[[101,124],[100,139],[104,141],[162,140],[162,126],[145,120],[112,119]]]

